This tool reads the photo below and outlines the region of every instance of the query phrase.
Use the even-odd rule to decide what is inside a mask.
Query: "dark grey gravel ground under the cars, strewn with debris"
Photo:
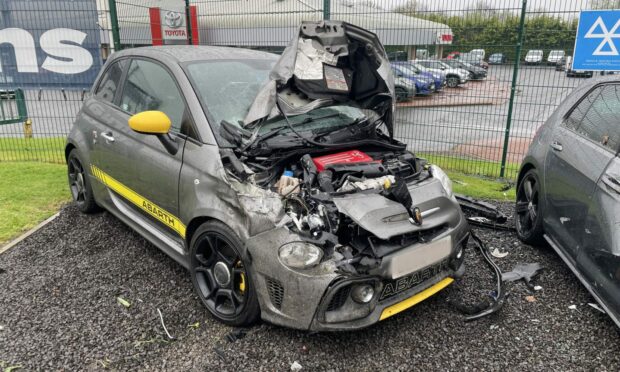
[[[366,330],[309,334],[263,323],[229,342],[233,329],[210,318],[183,268],[110,214],[68,206],[0,255],[0,369],[285,371],[298,361],[304,371],[620,370],[616,327],[587,306],[592,299],[550,248],[477,231],[509,252],[496,259],[504,271],[540,262],[535,282],[543,289],[509,283],[499,313],[464,323],[448,300],[476,300],[493,288],[470,249],[463,280]],[[158,308],[175,341],[166,341]]]

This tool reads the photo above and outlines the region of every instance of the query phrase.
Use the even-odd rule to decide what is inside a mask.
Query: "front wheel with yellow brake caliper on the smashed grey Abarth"
[[[240,252],[243,243],[219,221],[202,224],[190,243],[190,270],[196,294],[220,322],[240,327],[260,315],[250,271]]]

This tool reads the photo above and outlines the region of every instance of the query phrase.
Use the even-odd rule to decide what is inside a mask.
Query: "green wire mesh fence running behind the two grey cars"
[[[513,179],[536,130],[587,80],[566,71],[579,12],[612,3],[5,0],[0,161],[62,162],[64,137],[115,49],[192,43],[279,53],[302,20],[334,19],[384,43],[396,76],[398,139],[448,169]],[[30,47],[35,51],[24,52]],[[16,92],[23,92],[19,102]],[[17,112],[22,104],[25,114]]]

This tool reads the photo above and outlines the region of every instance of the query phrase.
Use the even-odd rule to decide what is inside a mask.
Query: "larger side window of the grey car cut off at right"
[[[620,146],[620,85],[599,89],[577,132],[616,152]]]

